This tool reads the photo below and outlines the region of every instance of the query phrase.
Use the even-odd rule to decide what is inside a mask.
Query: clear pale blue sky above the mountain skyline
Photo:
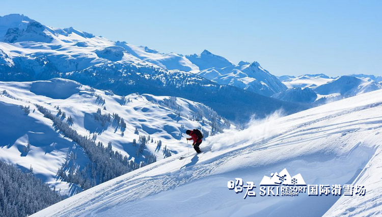
[[[184,55],[208,49],[275,75],[382,75],[382,1],[8,1],[45,25]]]

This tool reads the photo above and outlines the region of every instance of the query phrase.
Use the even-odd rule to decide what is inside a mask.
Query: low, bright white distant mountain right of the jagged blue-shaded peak
[[[334,80],[334,78],[325,74],[304,74],[297,77],[283,75],[278,78],[288,88],[313,88]]]

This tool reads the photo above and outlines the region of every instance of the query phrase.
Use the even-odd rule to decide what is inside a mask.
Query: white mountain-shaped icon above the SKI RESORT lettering
[[[264,176],[260,182],[260,186],[306,186],[301,174],[290,176],[288,171],[284,169],[280,173],[271,173],[270,177]]]

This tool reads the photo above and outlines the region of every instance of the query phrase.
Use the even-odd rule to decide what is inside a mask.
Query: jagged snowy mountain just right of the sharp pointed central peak
[[[212,67],[197,74],[216,84],[235,86],[264,96],[271,96],[287,89],[275,75],[263,69],[258,62],[241,61],[238,65]]]

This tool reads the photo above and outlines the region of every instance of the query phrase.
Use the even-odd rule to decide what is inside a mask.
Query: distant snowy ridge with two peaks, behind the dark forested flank
[[[274,75],[263,69],[257,62],[251,64],[241,61],[235,65],[208,50],[204,50],[200,55],[182,56],[175,53],[160,53],[142,46],[129,44],[121,46],[135,57],[161,68],[192,72],[219,85],[230,85],[264,96],[286,89]]]

